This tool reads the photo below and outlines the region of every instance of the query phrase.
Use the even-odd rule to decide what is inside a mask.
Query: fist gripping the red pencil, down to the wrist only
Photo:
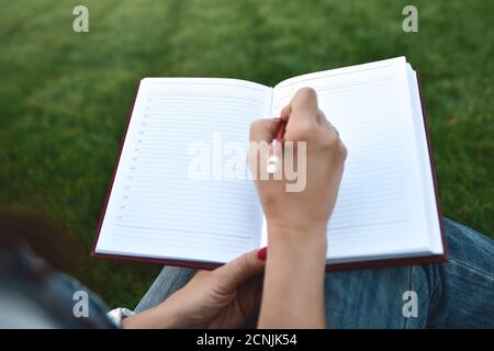
[[[317,97],[310,88],[296,92],[289,105],[281,111],[287,122],[284,141],[306,143],[306,155],[297,159],[305,162],[305,189],[288,192],[287,181],[259,180],[256,186],[268,222],[268,227],[282,227],[297,233],[308,229],[326,229],[335,206],[336,196],[347,155],[338,134],[317,107]],[[251,141],[271,143],[280,121],[259,120],[250,126]],[[255,155],[252,155],[255,154]],[[293,152],[293,155],[297,155]],[[283,163],[287,156],[283,154]],[[259,152],[251,152],[251,162],[259,162]],[[250,163],[252,165],[252,163]],[[260,161],[259,167],[263,167]],[[303,177],[304,174],[300,174]]]

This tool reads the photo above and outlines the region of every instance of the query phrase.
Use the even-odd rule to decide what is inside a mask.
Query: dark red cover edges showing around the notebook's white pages
[[[426,138],[427,138],[427,148],[429,150],[429,160],[430,160],[430,168],[433,170],[433,180],[434,180],[434,189],[435,189],[435,195],[436,195],[436,203],[437,203],[437,212],[439,217],[439,227],[441,230],[441,239],[442,239],[442,254],[434,254],[434,256],[422,256],[422,257],[412,257],[412,258],[395,258],[395,259],[383,259],[383,260],[369,260],[369,261],[358,261],[358,262],[347,262],[347,263],[328,263],[326,264],[326,271],[328,272],[336,272],[336,271],[346,271],[346,270],[357,270],[357,269],[371,269],[371,268],[386,268],[386,267],[398,267],[398,265],[412,265],[412,264],[425,264],[425,263],[438,263],[438,262],[446,262],[448,261],[448,247],[446,242],[446,230],[445,226],[442,224],[442,214],[440,208],[440,202],[439,202],[439,191],[438,191],[438,183],[437,183],[437,176],[436,176],[436,165],[434,160],[433,155],[433,145],[430,141],[430,135],[429,135],[429,124],[428,124],[428,117],[425,110],[425,103],[424,103],[424,97],[422,92],[422,83],[420,83],[420,77],[418,75],[418,71],[416,71],[417,76],[417,83],[418,83],[418,91],[420,95],[420,105],[422,105],[422,113],[424,116],[424,125],[426,131]],[[151,262],[151,263],[159,263],[164,265],[178,265],[178,267],[187,267],[187,268],[195,268],[195,269],[205,269],[211,270],[216,267],[222,265],[223,263],[212,263],[212,262],[202,262],[202,261],[189,261],[189,260],[172,260],[172,259],[157,259],[157,258],[148,258],[148,257],[137,257],[137,256],[123,256],[123,254],[108,254],[108,253],[98,253],[96,252],[96,247],[98,244],[98,239],[100,237],[101,226],[103,224],[104,215],[106,213],[108,202],[110,200],[110,194],[113,189],[113,182],[115,180],[116,169],[120,162],[120,158],[122,155],[122,149],[125,143],[125,137],[127,135],[128,125],[131,123],[132,112],[134,110],[135,101],[137,99],[137,91],[141,86],[141,80],[137,82],[137,87],[135,90],[135,95],[133,103],[128,110],[128,116],[127,116],[127,123],[126,127],[122,137],[122,141],[120,145],[119,155],[116,157],[116,162],[113,169],[113,174],[110,181],[110,185],[104,199],[103,207],[100,214],[100,219],[96,229],[94,240],[91,248],[91,256],[102,258],[102,259],[120,259],[120,260],[127,260],[127,261],[139,261],[139,262]]]

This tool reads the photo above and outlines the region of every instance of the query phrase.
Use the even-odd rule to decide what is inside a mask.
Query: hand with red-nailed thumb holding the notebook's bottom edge
[[[237,328],[259,309],[266,256],[247,252],[199,271],[164,303],[124,319],[124,328]],[[266,252],[266,251],[265,251]]]

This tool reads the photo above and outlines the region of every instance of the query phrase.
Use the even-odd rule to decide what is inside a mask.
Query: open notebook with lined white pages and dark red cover
[[[328,269],[446,260],[419,81],[404,57],[274,88],[237,79],[141,80],[92,253],[213,268],[266,246],[252,181],[221,177],[225,149],[247,146],[250,123],[279,115],[303,87],[316,90],[348,149],[327,227]],[[195,141],[211,148],[209,179],[191,177]]]

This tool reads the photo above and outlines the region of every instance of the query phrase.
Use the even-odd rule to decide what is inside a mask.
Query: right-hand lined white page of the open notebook
[[[303,87],[348,149],[329,220],[328,261],[415,256],[428,225],[405,59],[396,58],[289,79],[274,87],[273,112]]]

